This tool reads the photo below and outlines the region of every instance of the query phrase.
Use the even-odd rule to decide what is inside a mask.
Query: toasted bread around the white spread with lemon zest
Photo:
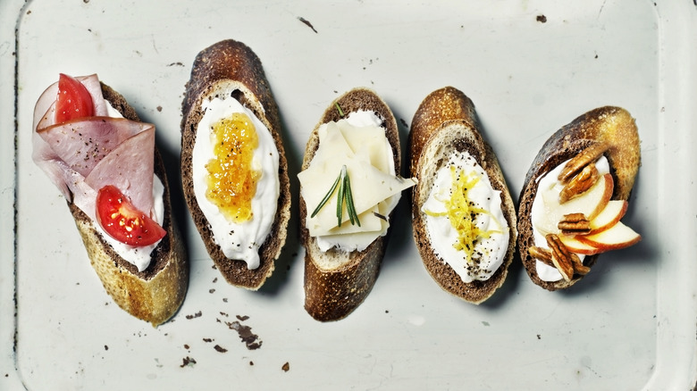
[[[474,104],[454,87],[443,87],[425,97],[414,115],[409,133],[409,175],[418,179],[412,189],[414,240],[426,270],[446,292],[480,304],[506,279],[516,249],[516,210],[496,155],[480,134]],[[508,221],[508,249],[489,279],[466,283],[432,246],[422,206],[428,199],[436,172],[450,154],[466,151],[483,167],[491,187],[500,191],[501,210]]]

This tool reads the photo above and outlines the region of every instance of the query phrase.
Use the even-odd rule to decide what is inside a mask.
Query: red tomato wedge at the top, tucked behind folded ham
[[[77,118],[91,117],[95,108],[92,96],[80,80],[61,73],[58,96],[55,100],[55,122],[63,123]]]

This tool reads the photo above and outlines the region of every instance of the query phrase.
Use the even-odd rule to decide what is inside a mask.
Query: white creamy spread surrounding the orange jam
[[[281,194],[278,178],[279,153],[269,129],[256,118],[254,112],[239,104],[236,99],[205,99],[201,106],[205,112],[198,122],[192,152],[194,194],[211,227],[215,244],[220,245],[227,258],[245,261],[248,269],[254,270],[259,267],[259,247],[271,232]],[[252,157],[252,168],[261,171],[261,177],[256,183],[256,193],[252,198],[253,217],[242,223],[226,219],[218,207],[206,198],[206,164],[215,157],[211,128],[215,122],[231,116],[233,112],[247,114],[254,124],[258,146]]]

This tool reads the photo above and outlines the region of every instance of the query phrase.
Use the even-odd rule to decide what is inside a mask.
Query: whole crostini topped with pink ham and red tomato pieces
[[[153,326],[169,320],[189,262],[155,127],[97,75],[61,74],[38,98],[33,130],[32,158],[65,196],[106,292]]]

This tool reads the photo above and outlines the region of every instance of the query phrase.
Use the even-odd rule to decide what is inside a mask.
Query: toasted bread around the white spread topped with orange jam
[[[260,264],[254,270],[248,269],[246,262],[228,259],[223,254],[220,245],[214,241],[210,224],[201,212],[194,195],[192,154],[198,122],[204,115],[201,104],[205,99],[211,99],[214,96],[232,96],[254,112],[271,131],[279,153],[278,176],[281,192],[276,217],[271,232],[259,248]],[[286,241],[290,220],[290,181],[288,162],[281,141],[281,120],[262,62],[248,46],[231,39],[207,47],[197,55],[194,61],[191,78],[186,85],[182,112],[181,180],[189,212],[206,245],[208,254],[225,280],[234,286],[256,290],[273,272],[274,261],[280,256],[281,248]]]

